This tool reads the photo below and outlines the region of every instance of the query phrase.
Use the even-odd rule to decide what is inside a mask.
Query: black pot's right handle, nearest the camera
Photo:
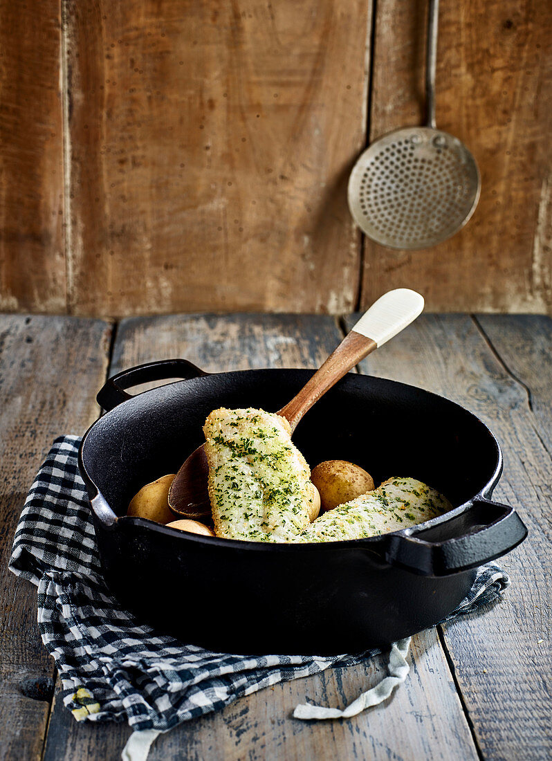
[[[477,498],[450,521],[389,537],[385,559],[419,575],[445,576],[504,555],[526,536],[525,524],[509,505]]]

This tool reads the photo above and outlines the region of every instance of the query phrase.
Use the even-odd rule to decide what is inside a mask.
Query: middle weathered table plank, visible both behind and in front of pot
[[[341,333],[330,317],[297,315],[172,316],[123,320],[110,372],[181,356],[208,371],[247,367],[314,367]],[[413,673],[385,704],[350,721],[291,717],[305,697],[344,706],[376,683],[384,659],[276,685],[224,711],[159,737],[150,759],[476,759],[477,753],[435,631],[413,641]],[[392,727],[393,731],[389,731]],[[116,759],[128,731],[83,728],[56,702],[46,761]]]

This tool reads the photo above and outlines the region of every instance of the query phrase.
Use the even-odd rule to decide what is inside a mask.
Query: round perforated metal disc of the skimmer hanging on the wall
[[[418,249],[454,235],[474,213],[480,174],[457,138],[429,127],[398,129],[372,143],[349,178],[349,209],[366,235]]]

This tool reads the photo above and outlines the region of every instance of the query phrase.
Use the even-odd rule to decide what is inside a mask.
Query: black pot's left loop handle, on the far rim
[[[129,368],[113,375],[98,391],[96,400],[106,412],[109,412],[121,402],[132,399],[132,395],[126,393],[126,388],[148,383],[152,380],[166,380],[167,378],[191,380],[203,375],[209,375],[209,373],[199,370],[187,359],[161,359],[157,362],[147,362],[145,365],[137,365],[136,368]]]

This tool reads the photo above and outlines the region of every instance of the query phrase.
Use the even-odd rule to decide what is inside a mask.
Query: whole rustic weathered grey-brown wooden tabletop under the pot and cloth
[[[208,371],[314,368],[354,316],[174,315],[120,323],[0,317],[0,757],[118,759],[126,724],[77,724],[63,707],[37,632],[34,587],[8,573],[11,540],[53,438],[81,434],[99,414],[107,374],[181,356]],[[158,738],[156,759],[545,759],[550,739],[550,453],[552,320],[425,315],[358,371],[427,388],[471,409],[503,445],[496,498],[529,537],[503,558],[502,603],[413,638],[407,682],[349,721],[297,721],[305,696],[343,706],[375,683],[382,658],[265,689]],[[32,699],[25,680],[53,680]],[[55,683],[55,689],[54,689]],[[27,686],[29,682],[27,681]]]

